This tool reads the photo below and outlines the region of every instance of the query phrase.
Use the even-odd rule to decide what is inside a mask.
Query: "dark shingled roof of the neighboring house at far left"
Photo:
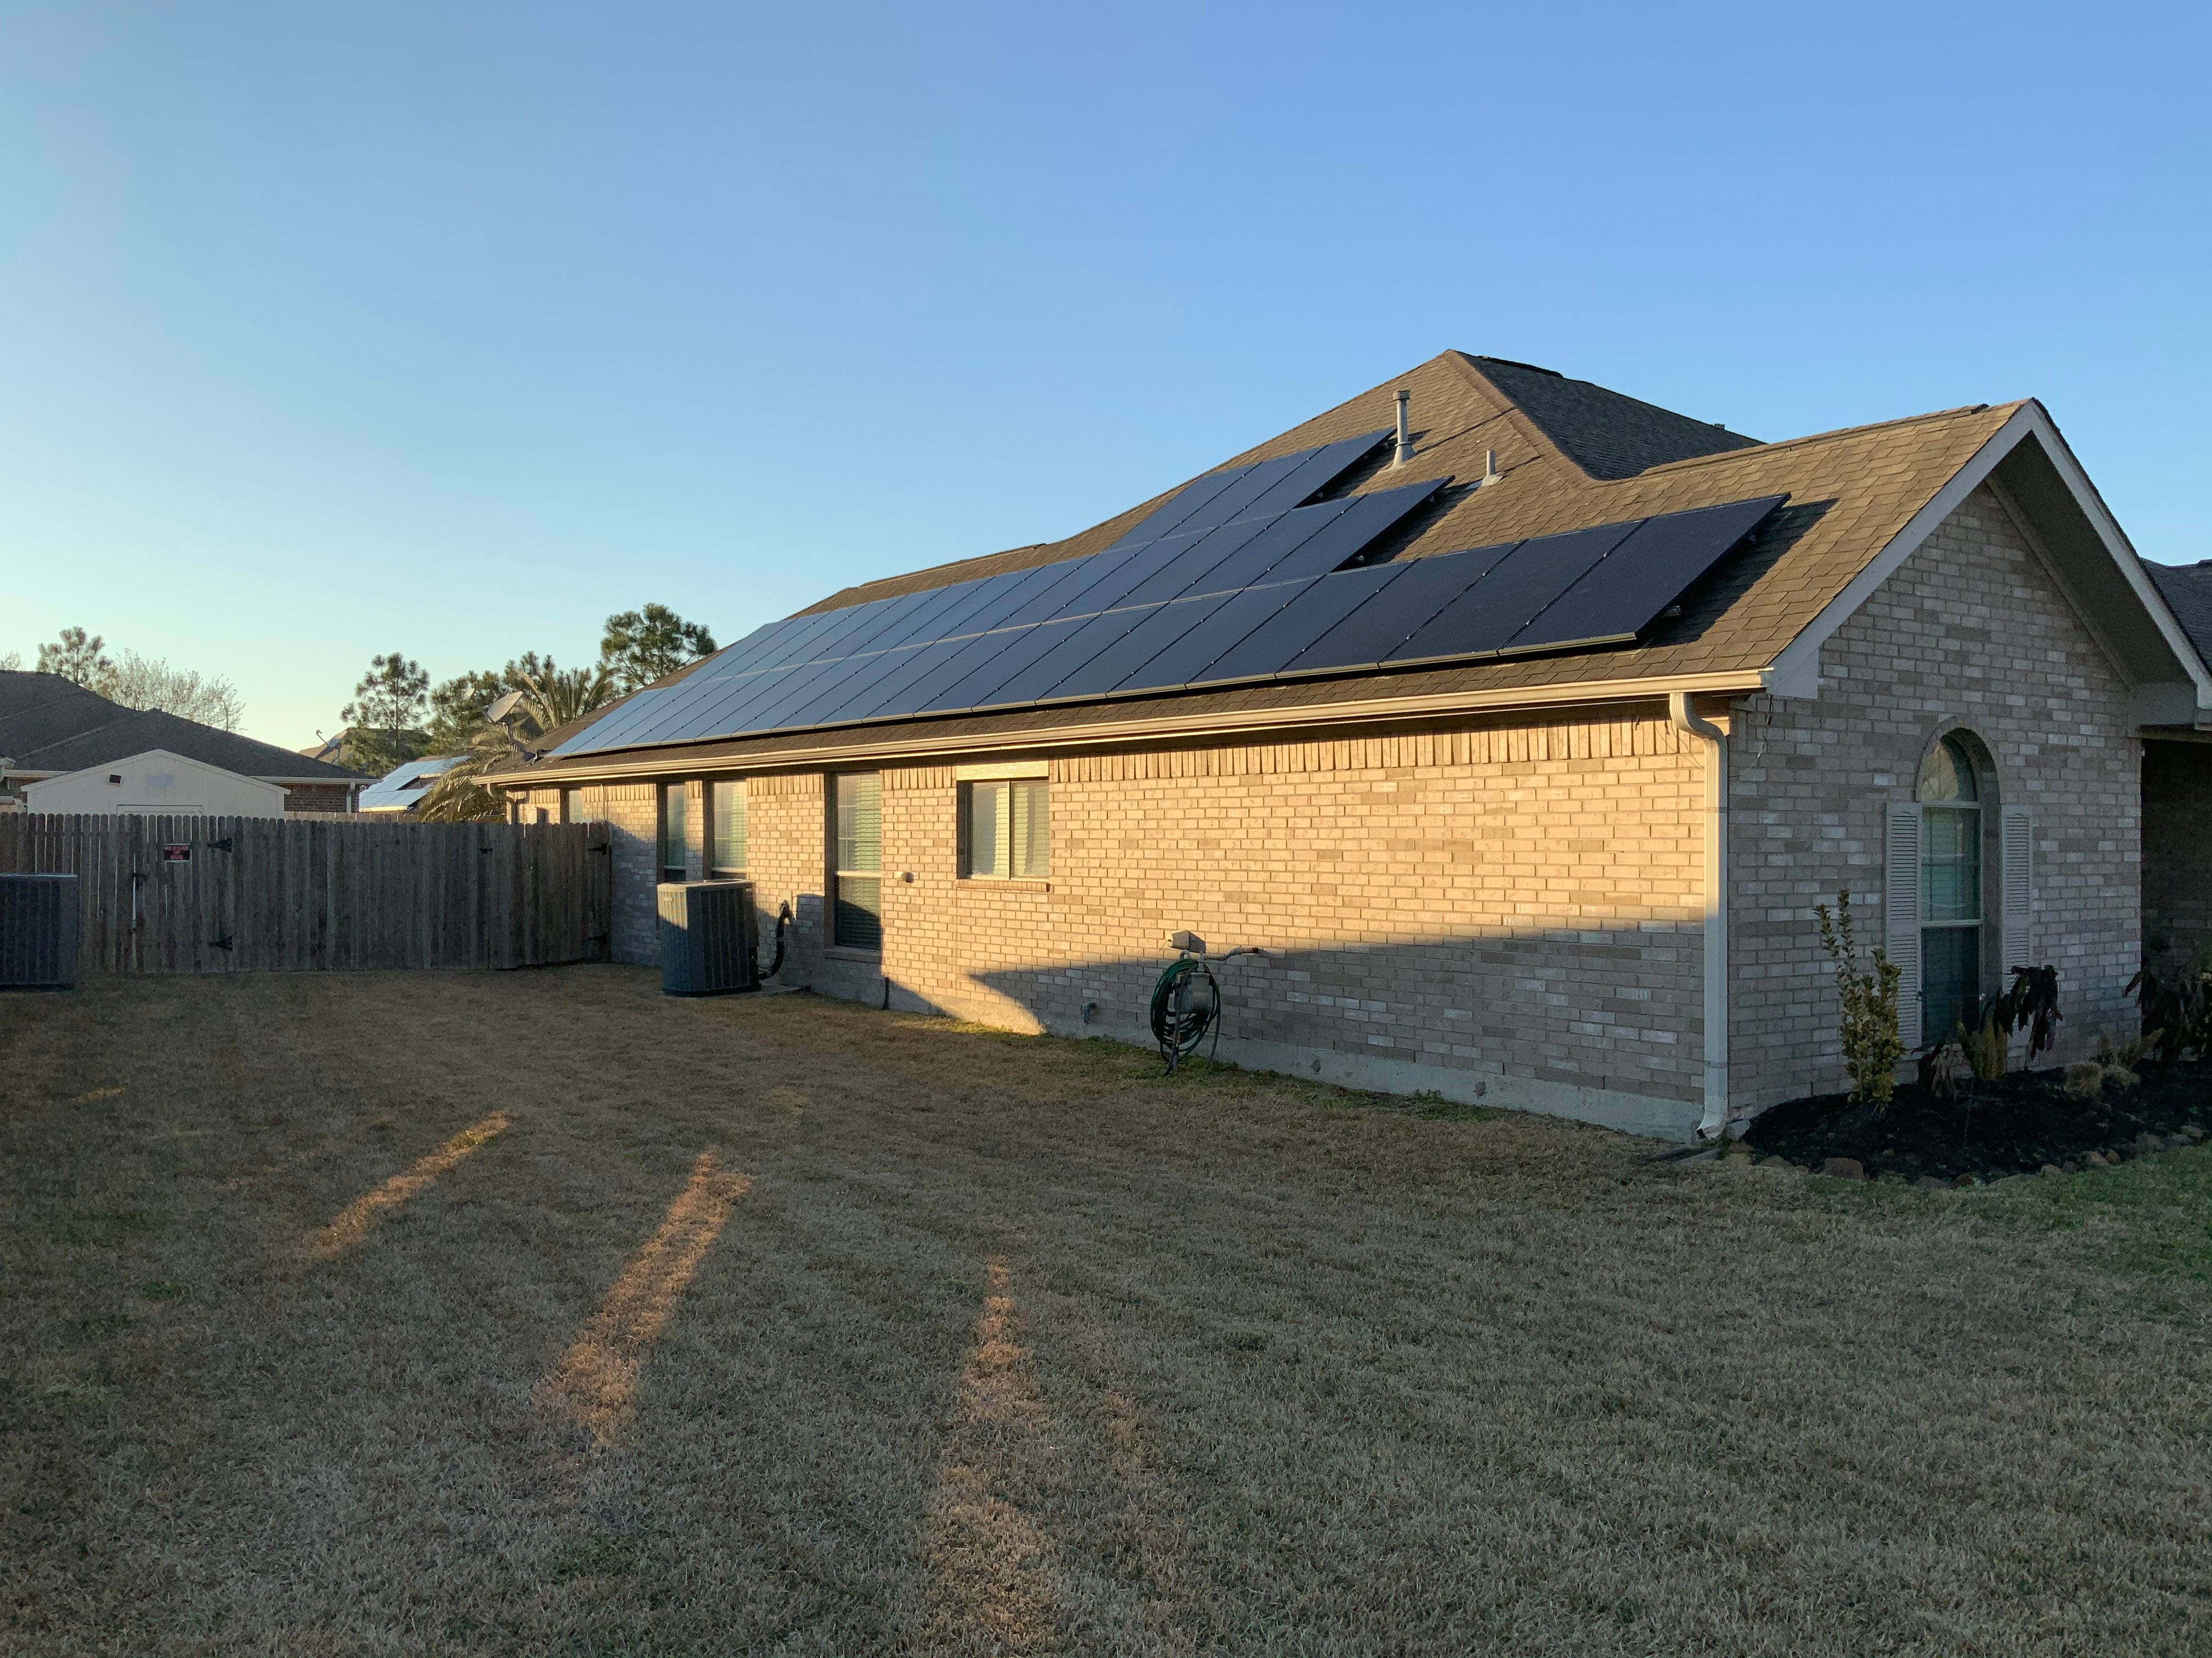
[[[60,674],[0,672],[0,756],[9,772],[84,772],[146,749],[263,783],[361,783],[325,760],[148,707],[124,707]]]

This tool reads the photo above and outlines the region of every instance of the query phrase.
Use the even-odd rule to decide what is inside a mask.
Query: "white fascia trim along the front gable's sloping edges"
[[[2166,608],[2166,599],[2159,597],[2150,577],[2143,575],[2143,562],[2135,555],[2135,548],[2128,544],[2119,522],[2110,511],[2106,511],[2097,489],[2088,482],[2088,473],[2081,471],[2081,462],[2075,460],[2073,449],[2066,447],[2066,440],[2059,436],[2057,427],[2051,424],[2051,416],[2044,413],[2039,402],[2022,405],[2011,420],[1997,427],[1989,442],[1973,453],[1973,460],[1960,466],[1958,473],[1951,475],[1951,482],[1936,491],[1933,500],[1913,513],[1905,528],[1889,539],[1889,546],[1885,546],[1865,570],[1851,577],[1845,590],[1820,608],[1820,615],[1805,623],[1798,637],[1792,639],[1761,674],[1765,690],[1774,696],[1818,696],[1820,646],[1834,639],[1836,630],[1858,615],[1858,608],[1874,597],[1876,588],[1896,575],[1898,566],[1918,553],[1920,544],[1927,542],[1929,535],[1933,535],[1936,528],[1951,517],[1951,513],[1955,513],[1975,489],[1989,482],[1991,473],[1997,471],[1997,464],[2026,438],[2035,438],[2042,444],[2044,455],[2051,460],[2051,466],[2057,471],[2066,491],[2081,508],[2081,515],[2090,522],[2090,528],[2097,531],[2097,539],[2104,544],[2106,553],[2112,555],[2112,564],[2119,568],[2121,579],[2141,601],[2152,626],[2157,626],[2159,637],[2166,641],[2174,663],[2181,668],[2181,676],[2194,685],[2199,718],[2212,714],[2212,674],[2205,672],[2203,661],[2197,657],[2197,648],[2188,641],[2188,634],[2181,632],[2181,623],[2174,621],[2174,615]]]

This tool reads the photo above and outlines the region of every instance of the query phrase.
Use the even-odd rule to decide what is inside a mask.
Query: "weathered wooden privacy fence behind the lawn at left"
[[[0,873],[73,873],[84,973],[604,962],[599,822],[0,816]]]

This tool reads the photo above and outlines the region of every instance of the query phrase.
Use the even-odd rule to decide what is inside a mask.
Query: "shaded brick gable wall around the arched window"
[[[2002,807],[2035,814],[2033,959],[2059,970],[2059,1054],[2132,1028],[2139,752],[2126,685],[2004,506],[1975,491],[1820,652],[1818,701],[1754,696],[1730,736],[1730,1090],[1736,1105],[1845,1088],[1812,906],[1843,886],[1882,942],[1885,809],[1953,727],[1995,760]],[[1991,822],[1993,827],[1993,822]],[[1995,871],[1995,833],[1984,836]],[[1995,942],[1984,975],[2017,942]]]

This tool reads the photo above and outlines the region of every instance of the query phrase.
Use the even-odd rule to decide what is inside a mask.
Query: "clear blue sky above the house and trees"
[[[0,652],[334,730],[734,639],[1444,347],[1787,438],[2044,398],[2212,557],[2205,7],[0,2]]]

